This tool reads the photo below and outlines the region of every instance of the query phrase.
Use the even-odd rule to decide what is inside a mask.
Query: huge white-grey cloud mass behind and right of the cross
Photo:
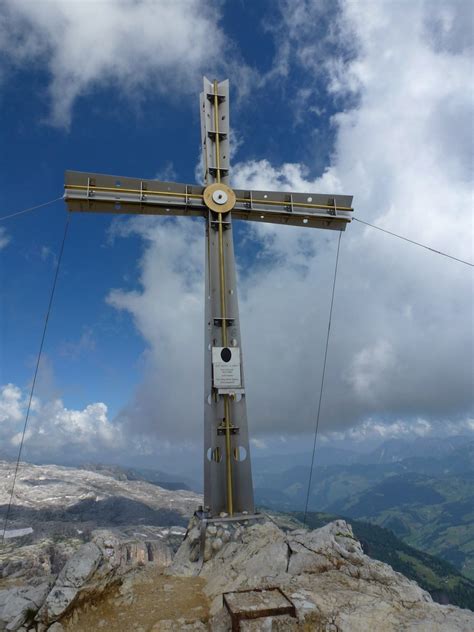
[[[289,31],[292,63],[316,72],[325,48],[297,28],[311,24],[316,5],[290,4],[287,25],[297,17],[294,36]],[[350,36],[351,48],[335,48],[323,69],[331,73],[335,103],[344,105],[332,121],[330,164],[312,178],[301,164],[247,161],[234,168],[234,186],[352,193],[361,218],[470,259],[471,58],[467,47],[449,44],[451,31],[461,28],[460,7],[449,8],[441,37],[422,2],[403,10],[396,3],[341,3],[329,37]],[[144,436],[191,440],[202,427],[203,228],[150,218],[124,226],[145,242],[142,287],[114,291],[109,301],[135,319],[149,344],[150,370],[119,419]],[[303,228],[247,227],[257,255],[239,272],[254,434],[313,428],[336,239]],[[465,266],[349,226],[322,430],[374,418],[408,426],[412,420],[414,427],[423,419],[433,428],[465,420],[472,409],[471,283]]]

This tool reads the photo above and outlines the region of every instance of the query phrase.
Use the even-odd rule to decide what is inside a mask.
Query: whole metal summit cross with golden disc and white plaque
[[[204,77],[200,109],[205,186],[67,171],[64,197],[69,211],[205,218],[204,510],[253,514],[232,219],[345,230],[352,196],[233,190],[228,80]]]

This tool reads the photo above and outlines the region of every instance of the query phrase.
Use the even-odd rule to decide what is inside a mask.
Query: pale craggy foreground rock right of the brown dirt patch
[[[297,618],[273,617],[241,624],[242,630],[367,632],[471,632],[474,613],[441,606],[415,582],[367,557],[343,520],[314,531],[284,533],[272,522],[242,529],[239,541],[222,546],[200,569],[189,564],[185,540],[169,572],[199,572],[207,580],[211,629],[229,630],[222,594],[280,587]]]

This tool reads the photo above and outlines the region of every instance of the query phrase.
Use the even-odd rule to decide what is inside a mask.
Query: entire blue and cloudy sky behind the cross
[[[3,0],[0,453],[15,455],[66,169],[200,181],[202,76],[231,86],[232,186],[354,196],[473,261],[470,2]],[[338,234],[235,222],[253,455],[311,445]],[[73,215],[25,460],[159,469],[202,451],[204,223]],[[474,436],[472,267],[352,222],[321,449]]]

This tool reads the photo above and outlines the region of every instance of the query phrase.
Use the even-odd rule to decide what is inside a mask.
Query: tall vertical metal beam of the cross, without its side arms
[[[229,83],[204,78],[201,94],[204,178],[227,196],[229,181]],[[215,208],[218,208],[217,206]],[[209,210],[206,226],[204,505],[222,512],[254,512],[239,305],[230,211]],[[237,359],[234,379],[219,381],[215,362],[224,349]],[[213,361],[214,360],[214,361]]]

